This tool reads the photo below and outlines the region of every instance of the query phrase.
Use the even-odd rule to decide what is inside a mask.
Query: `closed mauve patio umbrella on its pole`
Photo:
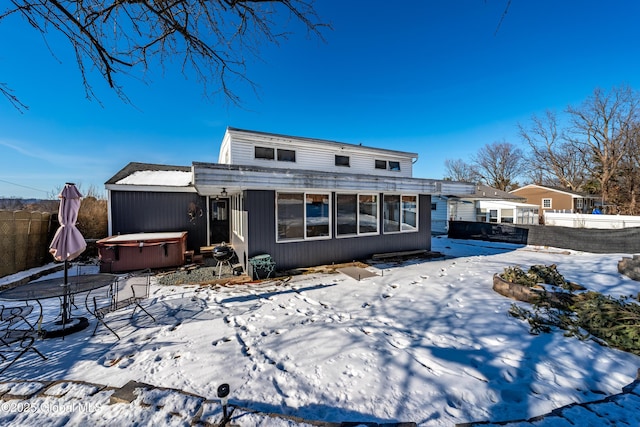
[[[64,261],[64,286],[68,286],[69,261],[76,258],[87,248],[87,243],[82,237],[80,230],[76,228],[78,220],[78,210],[80,210],[80,198],[82,194],[75,184],[66,183],[64,189],[58,196],[60,198],[60,209],[58,210],[58,222],[60,227],[56,230],[55,236],[49,245],[49,252],[56,261]],[[62,325],[69,319],[69,307],[65,298],[62,305]]]

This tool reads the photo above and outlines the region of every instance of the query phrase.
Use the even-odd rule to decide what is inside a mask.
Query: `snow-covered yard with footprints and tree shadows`
[[[30,355],[4,376],[135,380],[209,399],[228,383],[230,403],[264,412],[425,426],[528,418],[619,393],[635,379],[640,357],[561,331],[530,335],[507,313],[514,301],[492,290],[493,274],[507,266],[556,264],[590,290],[635,296],[640,284],[617,271],[629,255],[446,237],[434,238],[432,249],[446,257],[376,264],[368,270],[377,276],[361,281],[313,274],[234,286],[153,284],[146,306],[155,323],[115,319],[120,341],[105,328],[92,336],[93,323],[39,341],[49,360]],[[55,313],[56,304],[45,310]],[[32,421],[46,425],[37,416]]]

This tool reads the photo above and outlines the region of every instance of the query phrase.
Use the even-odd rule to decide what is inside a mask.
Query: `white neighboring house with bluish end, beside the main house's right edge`
[[[537,224],[538,207],[522,197],[486,185],[474,185],[473,194],[441,194],[431,199],[433,234],[449,230],[449,221]]]

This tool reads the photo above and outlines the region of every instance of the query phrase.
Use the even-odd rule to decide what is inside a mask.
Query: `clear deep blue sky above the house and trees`
[[[596,87],[640,89],[635,0],[323,0],[326,41],[299,26],[248,64],[254,94],[236,107],[171,69],[128,78],[134,106],[92,80],[85,99],[70,46],[22,19],[0,23],[0,82],[30,108],[0,98],[0,197],[85,191],[130,161],[217,161],[227,126],[405,150],[414,176],[441,179],[446,159],[485,144],[522,144],[517,124],[578,105]],[[6,41],[10,40],[10,43]],[[135,76],[134,76],[135,77]]]

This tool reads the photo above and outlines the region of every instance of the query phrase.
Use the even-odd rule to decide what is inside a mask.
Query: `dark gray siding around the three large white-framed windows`
[[[352,238],[276,243],[275,191],[247,191],[245,209],[249,213],[247,254],[268,253],[277,270],[350,262],[376,253],[431,250],[431,196],[419,198],[419,231]],[[335,197],[335,195],[333,196]],[[380,207],[382,209],[382,206]],[[382,212],[380,212],[380,219]],[[334,221],[335,224],[335,221]],[[381,226],[382,229],[382,226]]]

